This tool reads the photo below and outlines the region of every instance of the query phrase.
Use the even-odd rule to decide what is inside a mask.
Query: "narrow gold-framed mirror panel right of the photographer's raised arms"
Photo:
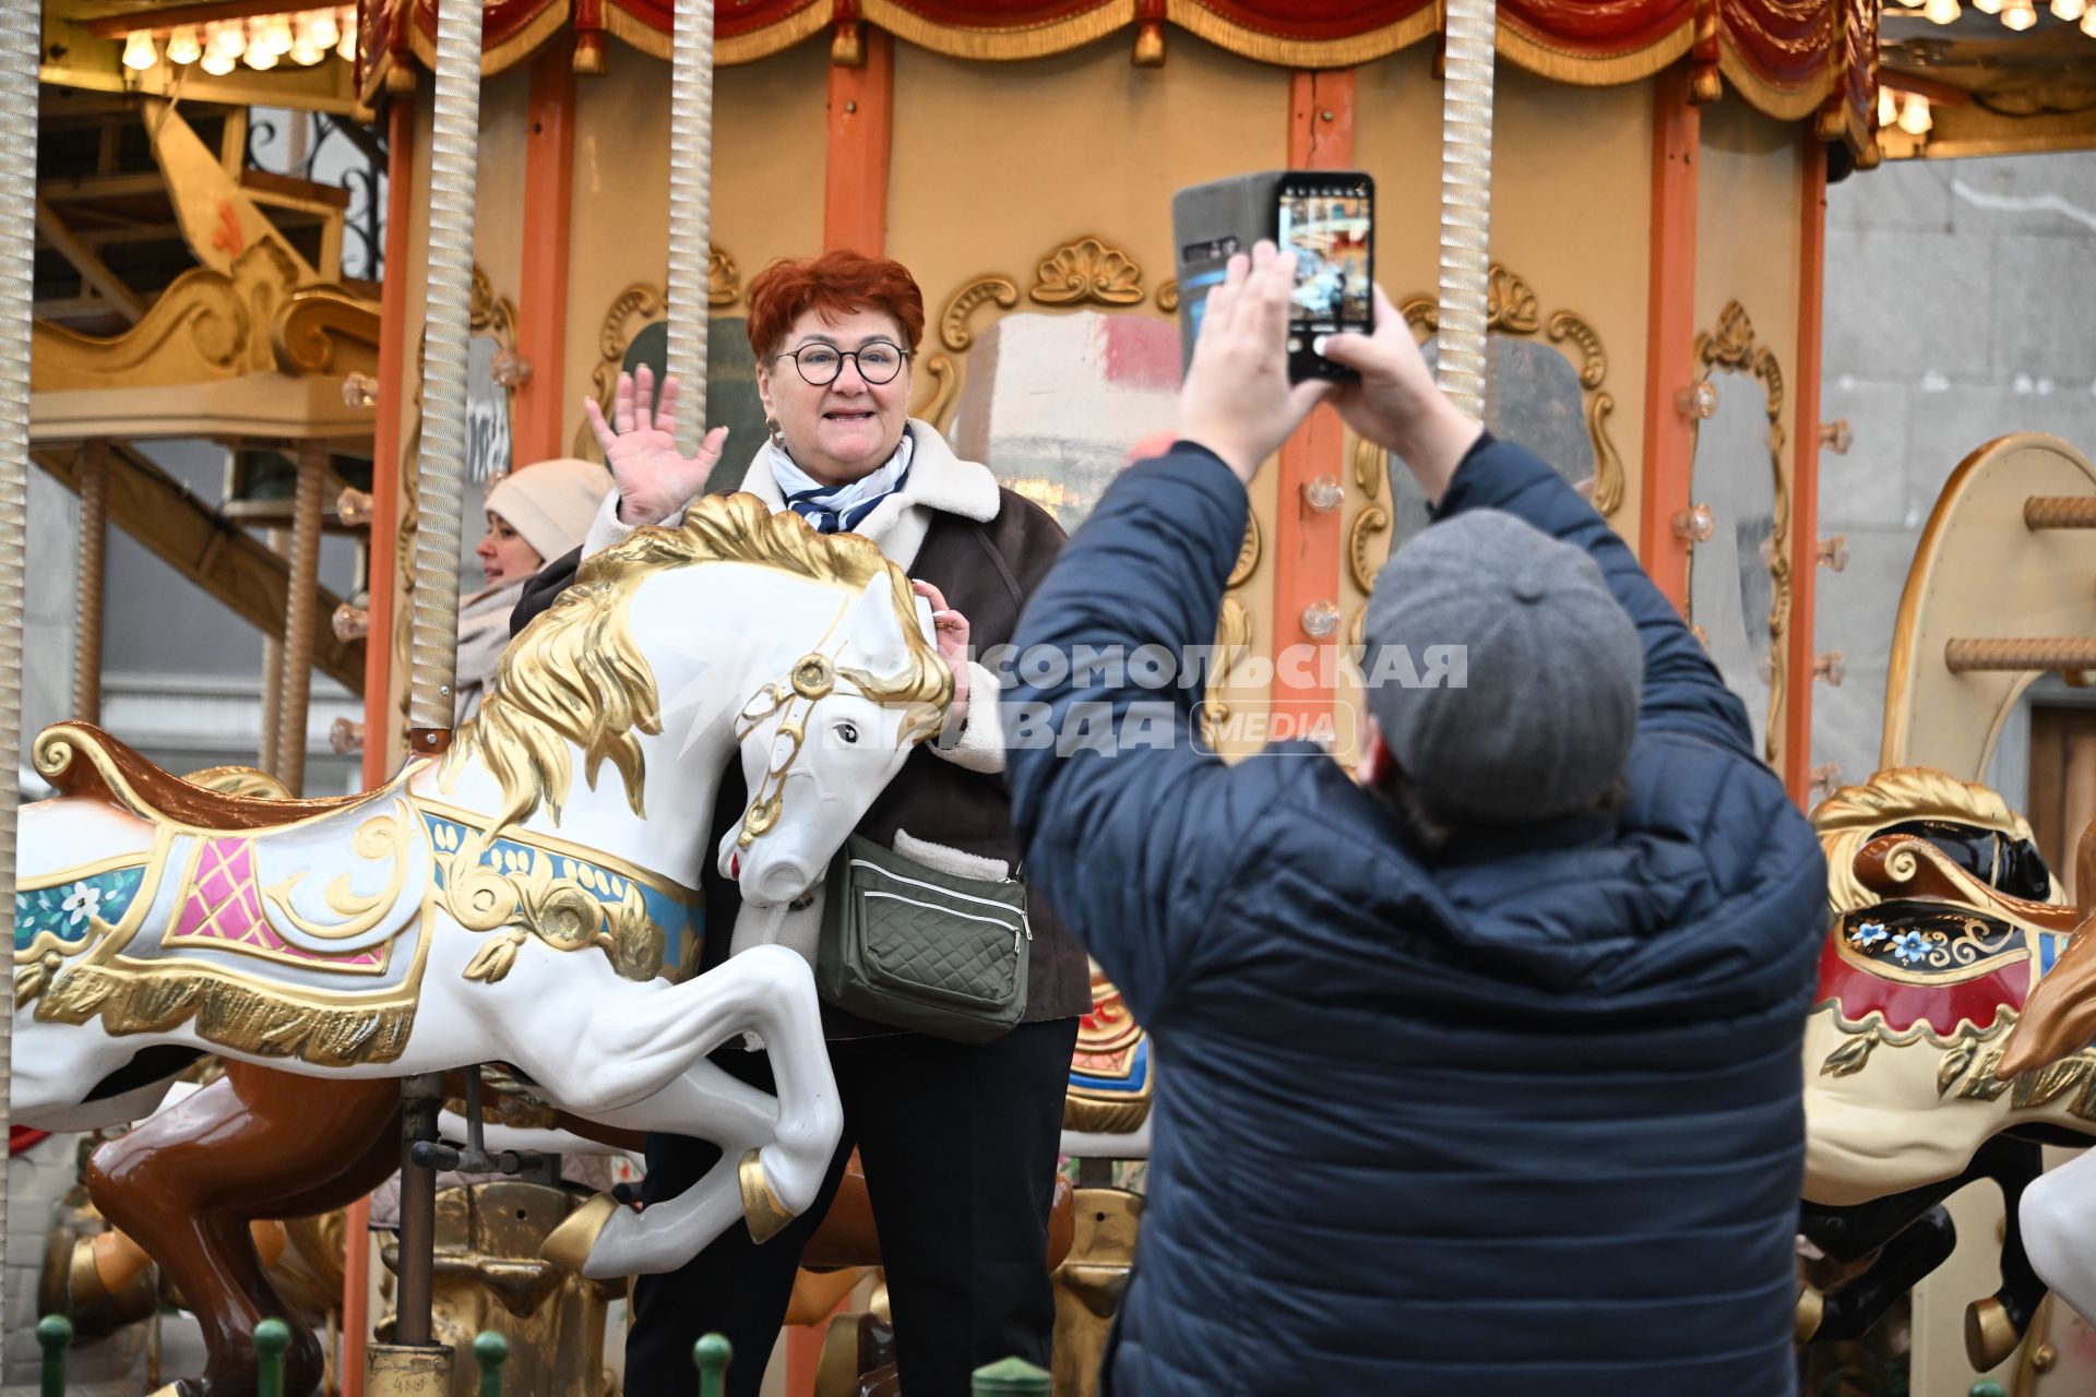
[[[1712,402],[1715,394],[1715,402]],[[1746,704],[1754,750],[1775,760],[1784,708],[1784,375],[1738,302],[1696,337],[1696,461],[1689,475],[1689,624]]]

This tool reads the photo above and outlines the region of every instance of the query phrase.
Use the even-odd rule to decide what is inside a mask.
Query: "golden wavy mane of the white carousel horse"
[[[568,746],[583,750],[591,790],[608,760],[627,783],[627,804],[646,819],[641,737],[662,731],[654,670],[629,626],[633,593],[654,576],[698,563],[752,563],[788,576],[864,591],[887,574],[891,601],[903,616],[910,664],[895,679],[876,679],[868,697],[880,704],[941,706],[952,674],[920,635],[914,593],[903,570],[870,538],[820,534],[807,519],[771,509],[755,494],[708,494],[694,501],[677,528],[635,530],[623,542],[583,561],[551,607],[541,612],[503,651],[495,691],[455,735],[438,775],[449,788],[476,756],[503,790],[503,808],[488,836],[543,804],[560,821],[574,781]]]

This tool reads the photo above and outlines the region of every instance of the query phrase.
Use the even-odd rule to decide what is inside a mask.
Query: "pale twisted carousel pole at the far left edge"
[[[42,6],[0,0],[0,752],[21,762],[21,584],[29,517],[29,266],[36,258],[36,61]],[[0,781],[0,907],[15,926],[15,808],[21,781]],[[13,943],[13,934],[8,936]],[[15,997],[0,1010],[0,1125],[15,1041]],[[6,1190],[0,1190],[0,1288]],[[0,1290],[0,1311],[8,1301]]]

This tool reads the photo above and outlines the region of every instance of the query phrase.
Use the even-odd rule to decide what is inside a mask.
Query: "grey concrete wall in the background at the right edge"
[[[1813,693],[1813,764],[1878,764],[1893,616],[1951,469],[2008,431],[2096,452],[2096,153],[1903,161],[1828,191],[1821,417],[1855,446],[1819,459],[1817,649],[1842,687]]]

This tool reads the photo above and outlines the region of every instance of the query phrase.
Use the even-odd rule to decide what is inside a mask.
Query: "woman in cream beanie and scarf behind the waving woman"
[[[524,582],[583,542],[612,488],[593,461],[541,461],[509,471],[488,490],[488,536],[474,553],[484,586],[459,601],[457,716],[465,723],[495,687],[495,666],[509,645],[509,612]]]

